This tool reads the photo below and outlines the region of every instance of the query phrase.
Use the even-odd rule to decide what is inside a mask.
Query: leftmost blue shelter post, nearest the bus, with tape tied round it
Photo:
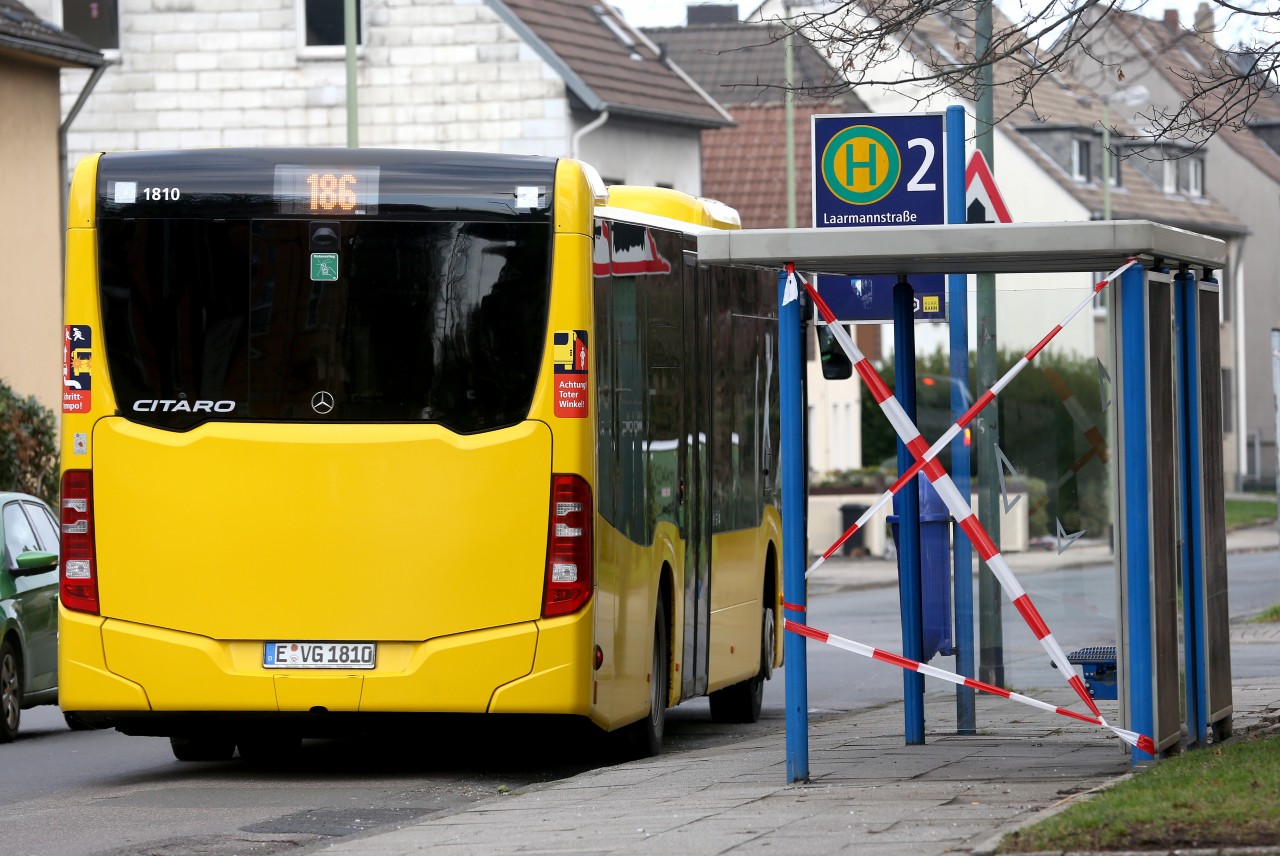
[[[804,402],[800,372],[804,353],[800,298],[787,294],[787,274],[778,275],[778,384],[782,393],[782,598],[783,614],[805,622]],[[805,640],[783,633],[786,658],[787,782],[809,781],[809,667]]]

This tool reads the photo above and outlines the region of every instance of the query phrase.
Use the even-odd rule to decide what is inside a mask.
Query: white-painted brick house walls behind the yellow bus
[[[346,145],[344,60],[300,47],[297,3],[120,0],[118,64],[72,125],[68,170],[102,150]],[[361,146],[566,156],[594,118],[571,116],[561,77],[483,1],[362,3]],[[28,5],[59,20],[60,0]],[[64,115],[86,79],[63,73]],[[611,175],[698,191],[696,133],[640,128],[620,146],[620,131],[598,141],[611,161],[626,152]]]

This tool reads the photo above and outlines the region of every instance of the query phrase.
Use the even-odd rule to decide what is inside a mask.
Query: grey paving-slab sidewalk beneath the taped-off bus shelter
[[[1275,530],[1267,530],[1235,536],[1234,548],[1275,549]],[[1057,557],[1038,560],[1046,559]],[[818,585],[846,586],[850,578],[872,576],[850,567],[855,562],[842,564],[828,568]],[[1276,642],[1280,626],[1233,628],[1233,644]],[[1236,681],[1236,733],[1280,729],[1280,663],[1276,672]],[[1066,687],[1041,688],[1036,696],[1064,706],[1079,701]],[[928,692],[925,722],[952,722],[954,708],[952,692]],[[1114,702],[1102,708],[1119,722]],[[778,731],[590,770],[314,852],[989,856],[1001,833],[1132,770],[1129,755],[1103,729],[986,696],[978,699],[978,734],[933,728],[924,746],[904,746],[901,728],[895,704],[810,723],[808,783],[786,783]]]

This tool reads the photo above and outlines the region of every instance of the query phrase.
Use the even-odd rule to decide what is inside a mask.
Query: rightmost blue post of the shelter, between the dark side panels
[[[1183,663],[1187,676],[1187,743],[1208,733],[1208,672],[1204,645],[1204,548],[1201,540],[1199,287],[1196,274],[1174,276],[1178,329],[1178,430],[1183,450]]]

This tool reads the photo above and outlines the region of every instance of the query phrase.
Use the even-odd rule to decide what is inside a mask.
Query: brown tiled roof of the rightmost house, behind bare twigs
[[[1183,69],[1212,73],[1231,56],[1210,45],[1201,36],[1185,27],[1171,29],[1164,20],[1152,20],[1143,15],[1112,9],[1107,13],[1112,22],[1140,56],[1156,69],[1161,77],[1172,84],[1184,99],[1192,96],[1190,82]],[[1252,106],[1252,113],[1263,122],[1280,122],[1280,97],[1260,91],[1260,97]],[[1251,131],[1221,128],[1213,137],[1248,159],[1272,180],[1280,182],[1280,155]]]

